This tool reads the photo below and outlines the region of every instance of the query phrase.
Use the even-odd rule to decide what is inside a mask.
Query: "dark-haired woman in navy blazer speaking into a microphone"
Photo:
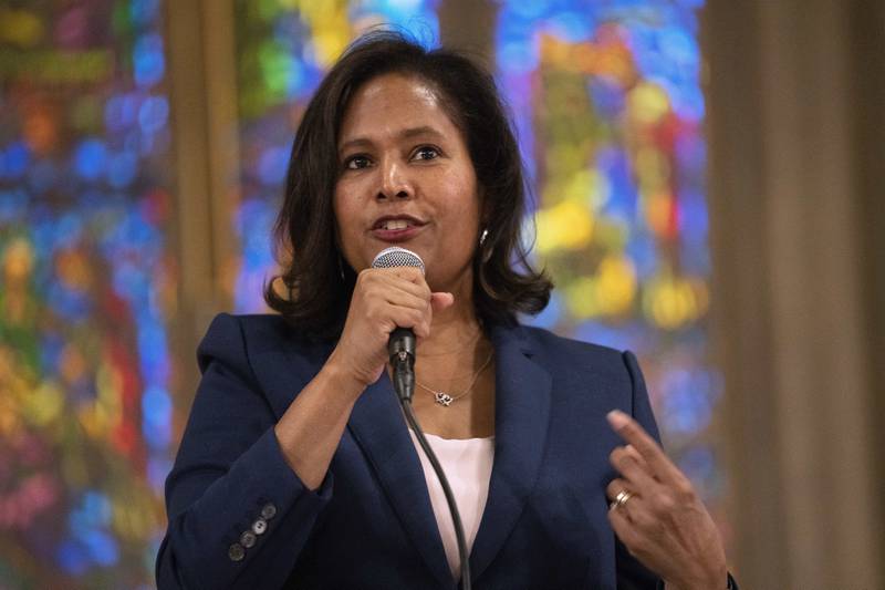
[[[635,358],[517,323],[552,288],[523,213],[487,73],[393,33],[342,56],[292,148],[279,315],[222,314],[200,344],[162,589],[456,587],[451,521],[385,374],[396,327],[418,338],[414,411],[477,588],[730,583],[709,515],[646,434]],[[392,245],[426,276],[371,268]]]

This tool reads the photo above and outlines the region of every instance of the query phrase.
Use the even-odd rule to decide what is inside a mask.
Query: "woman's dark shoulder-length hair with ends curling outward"
[[[470,58],[427,50],[404,33],[374,31],[357,39],[330,70],[298,127],[274,227],[283,267],[264,300],[291,323],[321,338],[340,335],[356,280],[335,245],[332,208],[340,175],[337,137],[351,99],[369,80],[414,75],[434,87],[466,138],[482,187],[489,236],[473,257],[473,303],[483,324],[512,323],[538,313],[552,282],[535,271],[521,240],[527,186],[522,159],[494,80]],[[284,292],[277,287],[285,286]]]

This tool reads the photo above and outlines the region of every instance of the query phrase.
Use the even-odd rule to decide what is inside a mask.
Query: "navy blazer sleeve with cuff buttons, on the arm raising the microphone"
[[[332,496],[283,457],[240,327],[217,317],[198,349],[202,377],[171,473],[159,590],[280,588]]]

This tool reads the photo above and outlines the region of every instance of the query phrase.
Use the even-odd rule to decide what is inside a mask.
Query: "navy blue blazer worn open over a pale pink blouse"
[[[621,444],[606,413],[621,408],[657,437],[636,359],[522,325],[490,338],[494,463],[473,588],[655,588],[606,518]],[[283,458],[273,425],[332,346],[275,315],[215,319],[166,482],[160,590],[457,588],[386,374],[356,402],[320,488]]]

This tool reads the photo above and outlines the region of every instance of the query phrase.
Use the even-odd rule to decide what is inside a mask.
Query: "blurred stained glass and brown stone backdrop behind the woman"
[[[885,588],[885,3],[0,1],[0,589],[150,588],[219,311],[366,28],[494,72],[554,278],[641,358],[741,586]]]

